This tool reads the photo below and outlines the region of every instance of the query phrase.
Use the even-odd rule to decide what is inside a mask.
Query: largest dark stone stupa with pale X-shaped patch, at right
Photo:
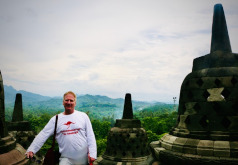
[[[182,83],[177,126],[151,143],[163,165],[238,164],[238,54],[221,4],[214,6],[211,38],[210,54],[194,59]]]

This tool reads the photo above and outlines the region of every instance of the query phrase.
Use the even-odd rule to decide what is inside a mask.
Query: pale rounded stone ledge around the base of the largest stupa
[[[183,154],[227,158],[238,157],[238,141],[200,140],[165,135],[160,141],[151,143],[151,149],[156,147],[163,147],[166,150]]]

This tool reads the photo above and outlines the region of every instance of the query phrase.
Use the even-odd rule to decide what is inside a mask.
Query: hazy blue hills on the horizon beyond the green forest
[[[31,112],[54,113],[63,111],[62,96],[48,97],[23,90],[16,90],[12,86],[4,86],[6,108],[13,109],[16,93],[22,94],[23,109]],[[133,99],[133,96],[132,96]],[[151,103],[132,100],[133,110],[138,111],[154,105],[165,103]],[[112,116],[121,118],[124,107],[124,98],[112,99],[101,95],[77,95],[76,109],[90,112],[95,117]]]

